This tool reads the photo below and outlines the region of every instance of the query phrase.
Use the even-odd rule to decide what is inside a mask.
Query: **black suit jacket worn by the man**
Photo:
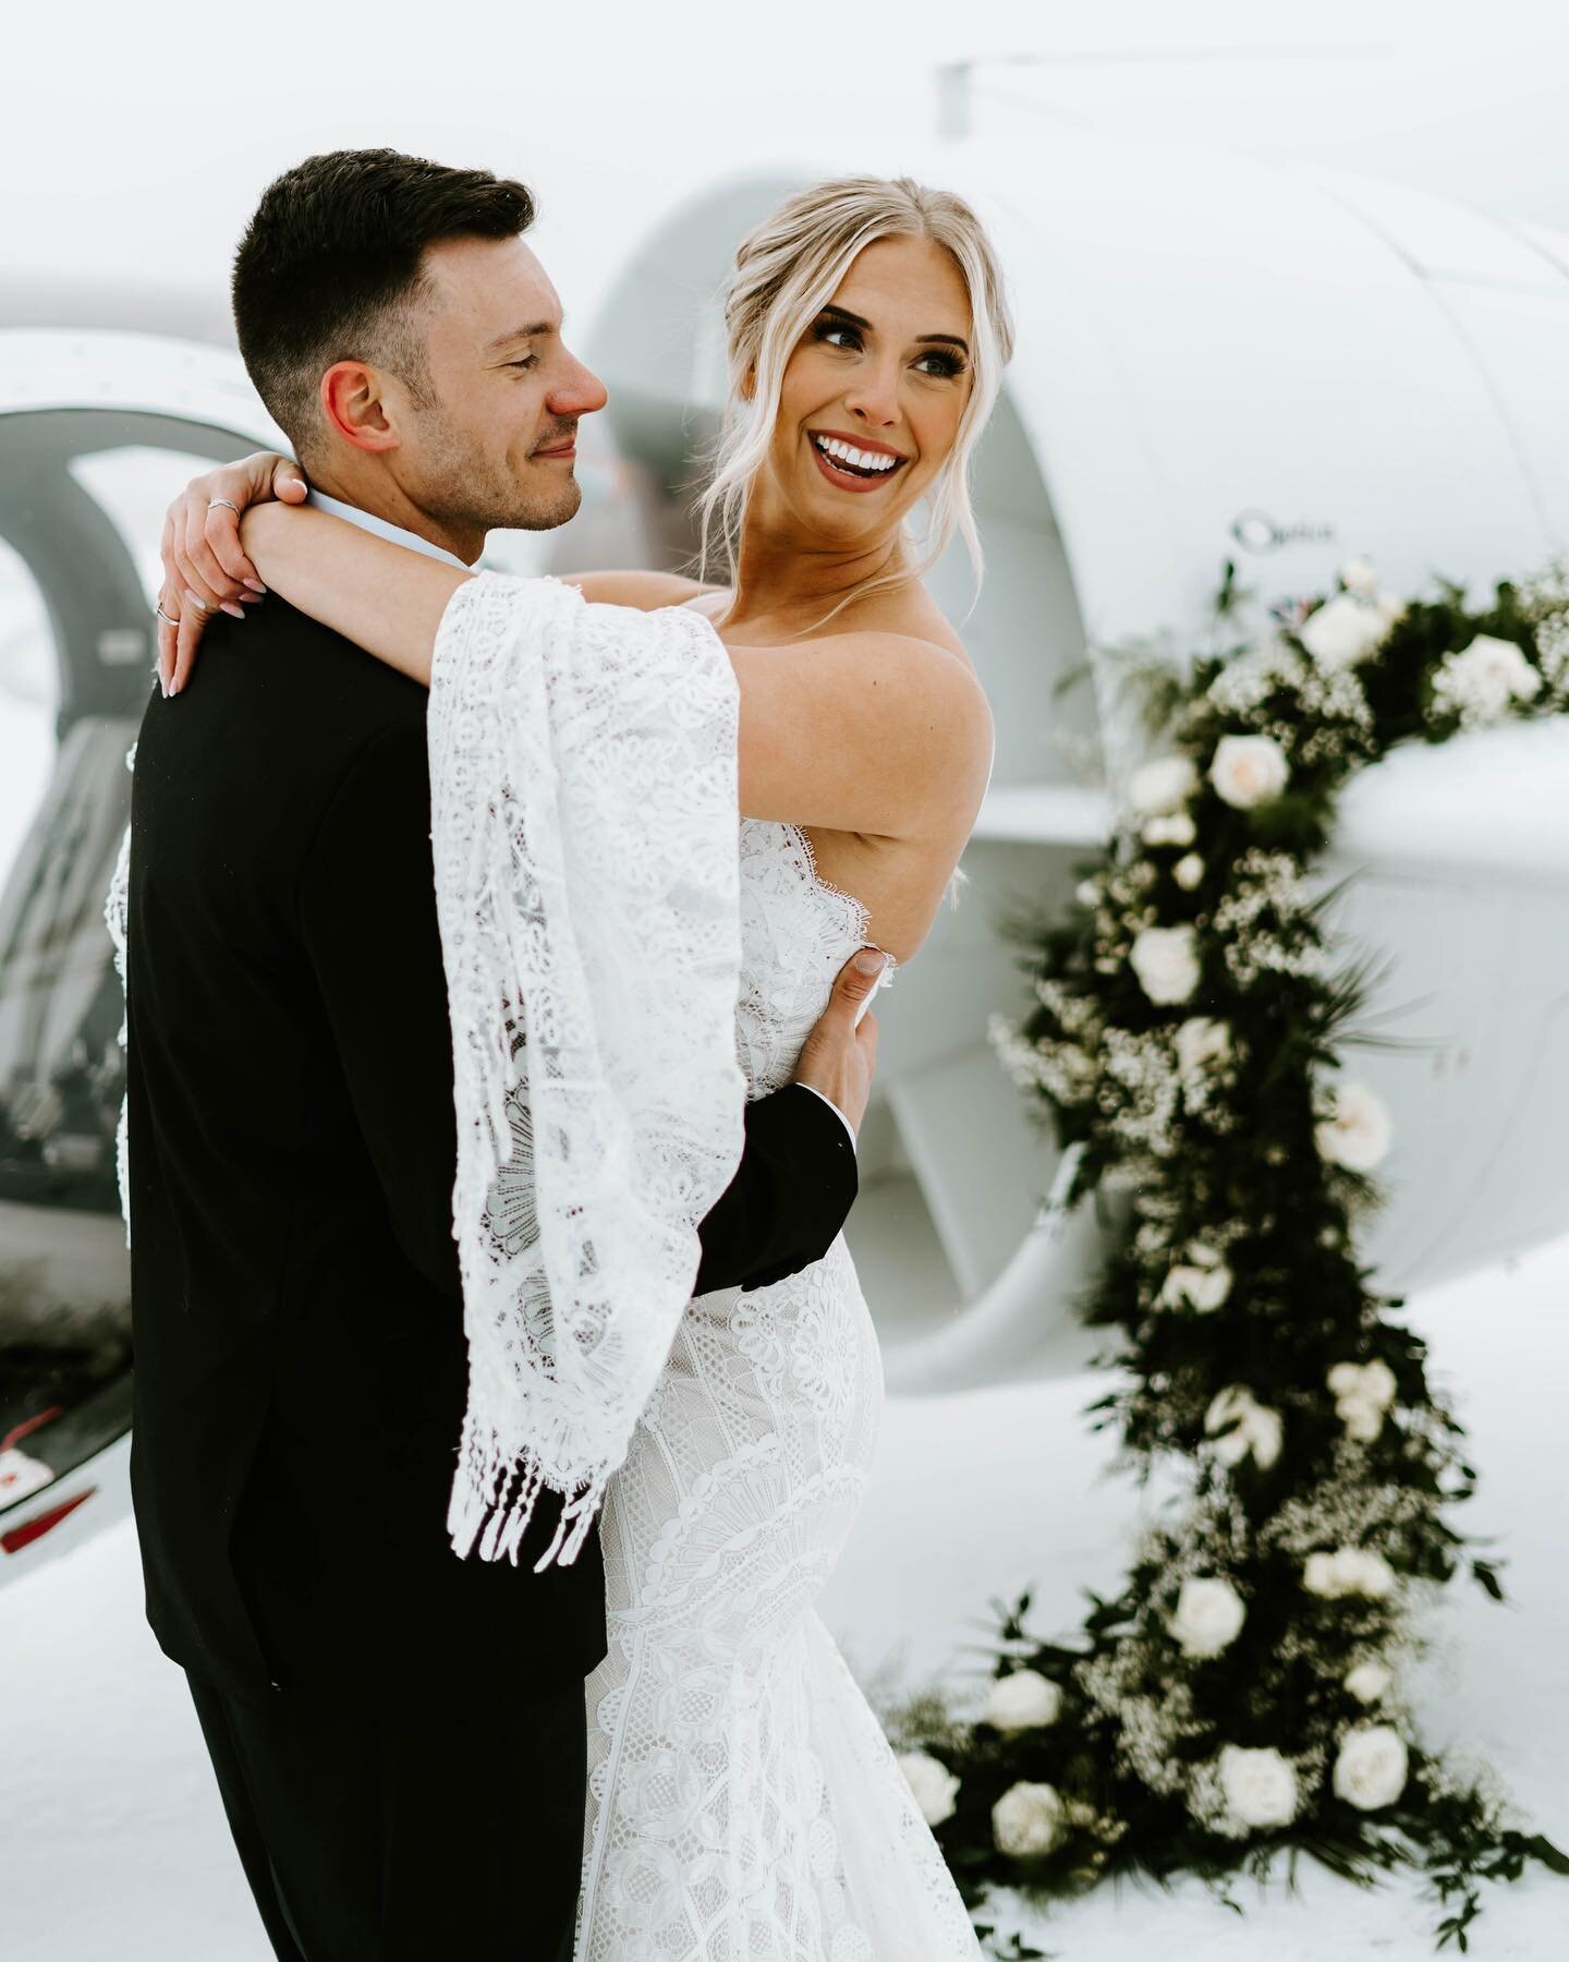
[[[277,593],[147,706],[131,793],[131,1491],[147,1615],[231,1695],[494,1705],[604,1656],[569,1568],[459,1560],[467,1393],[428,695]],[[696,1291],[822,1254],[843,1124],[790,1087],[702,1228]]]

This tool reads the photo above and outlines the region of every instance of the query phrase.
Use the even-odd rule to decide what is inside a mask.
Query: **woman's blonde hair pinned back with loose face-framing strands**
[[[867,593],[920,579],[937,563],[955,530],[969,551],[979,594],[985,559],[969,498],[969,459],[1014,351],[1014,322],[1002,269],[981,220],[951,190],[932,190],[912,177],[834,177],[812,184],[786,198],[737,245],[724,296],[730,388],[710,455],[712,475],[698,500],[700,577],[708,575],[718,526],[734,585],[747,498],[773,441],[784,367],[857,253],[877,239],[894,237],[932,239],[959,267],[971,306],[971,392],[953,449],[928,492],[932,520],[920,540],[920,563],[904,573],[869,575],[824,618],[832,620],[841,606]],[[747,377],[749,396],[743,394]],[[908,528],[904,538],[914,543]]]

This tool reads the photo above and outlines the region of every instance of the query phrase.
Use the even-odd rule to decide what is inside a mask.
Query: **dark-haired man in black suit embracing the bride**
[[[571,439],[606,396],[561,341],[531,218],[518,182],[392,151],[269,186],[235,326],[329,510],[465,565],[492,526],[573,516]],[[553,1495],[516,1568],[447,1542],[467,1352],[426,704],[269,594],[147,706],[131,1481],[147,1615],[275,1952],[567,1962],[604,1572],[596,1534],[531,1572]],[[779,1279],[839,1232],[871,965],[841,977],[800,1083],[749,1107],[698,1293]]]

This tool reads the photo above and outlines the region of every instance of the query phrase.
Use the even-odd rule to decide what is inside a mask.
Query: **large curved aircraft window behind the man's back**
[[[124,999],[104,897],[153,687],[163,514],[216,461],[206,434],[104,410],[4,418],[0,1517],[129,1422]]]

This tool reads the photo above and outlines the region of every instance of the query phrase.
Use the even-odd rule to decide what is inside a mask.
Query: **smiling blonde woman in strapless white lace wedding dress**
[[[726,330],[732,392],[702,524],[728,583],[569,583],[588,602],[704,616],[734,667],[737,1042],[761,1097],[790,1079],[857,946],[916,955],[987,789],[987,702],[922,575],[955,530],[979,573],[967,463],[1012,326],[969,206],[908,179],[845,179],[741,241]],[[426,685],[433,647],[473,630],[479,587],[494,622],[508,593],[539,585],[475,579],[290,498],[298,465],[259,455],[171,508],[169,693],[206,614],[239,612],[263,583]],[[906,520],[922,500],[918,540]],[[586,1683],[577,1962],[981,1954],[814,1609],[881,1399],[843,1238],[775,1285],[690,1301],[598,1523],[610,1646]]]

